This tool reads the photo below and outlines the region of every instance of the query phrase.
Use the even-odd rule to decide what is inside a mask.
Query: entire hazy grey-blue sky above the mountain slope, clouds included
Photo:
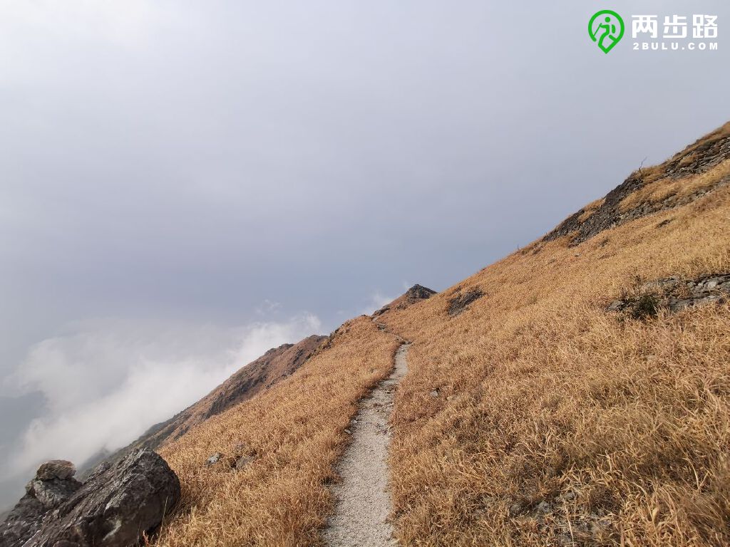
[[[730,120],[725,0],[523,4],[0,0],[0,507]]]

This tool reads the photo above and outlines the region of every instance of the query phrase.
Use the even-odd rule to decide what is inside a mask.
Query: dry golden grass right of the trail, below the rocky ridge
[[[485,296],[456,318],[453,290],[380,317],[413,341],[393,415],[402,543],[729,544],[730,306],[604,311],[637,276],[729,271],[728,233],[723,187],[517,252],[460,284]]]

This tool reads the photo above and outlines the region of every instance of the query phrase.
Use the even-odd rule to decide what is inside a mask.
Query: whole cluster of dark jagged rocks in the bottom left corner
[[[180,499],[180,481],[150,449],[134,451],[115,465],[102,464],[84,484],[67,476],[68,470],[58,462],[41,466],[3,524],[1,547],[133,546]],[[37,497],[38,484],[46,488],[55,481],[73,481],[77,487],[48,507]]]

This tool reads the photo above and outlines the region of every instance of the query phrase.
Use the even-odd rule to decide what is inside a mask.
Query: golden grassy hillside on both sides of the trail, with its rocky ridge
[[[377,317],[412,341],[391,417],[401,543],[730,544],[729,183],[730,124]],[[167,446],[185,503],[158,544],[320,543],[345,428],[397,345],[353,319]]]

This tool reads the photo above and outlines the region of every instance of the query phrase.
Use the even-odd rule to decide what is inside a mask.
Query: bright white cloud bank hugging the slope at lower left
[[[76,325],[34,346],[7,381],[16,392],[41,391],[47,413],[31,422],[2,476],[30,475],[45,459],[80,464],[124,446],[266,350],[320,327],[311,314],[234,328],[113,319]]]

